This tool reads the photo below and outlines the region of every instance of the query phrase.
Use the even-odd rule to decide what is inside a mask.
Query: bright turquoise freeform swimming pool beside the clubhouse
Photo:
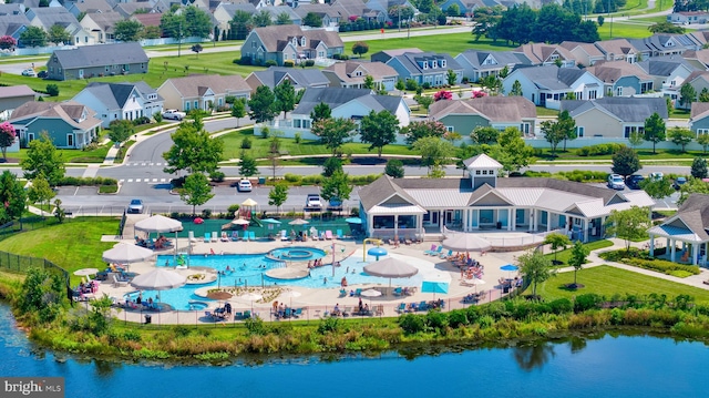
[[[300,247],[294,247],[290,249],[301,249]],[[320,251],[325,255],[325,251],[314,247],[308,247],[310,251]],[[392,286],[421,286],[421,283],[427,276],[438,273],[434,268],[434,264],[424,259],[405,257],[408,262],[415,265],[420,272],[419,274],[409,278],[391,279]],[[338,255],[338,261],[340,256]],[[172,262],[171,255],[157,256],[157,263],[160,266],[164,266],[166,261]],[[322,267],[314,268],[310,271],[310,275],[300,279],[276,279],[266,275],[266,272],[277,267],[284,267],[282,261],[269,259],[266,254],[228,254],[216,256],[199,256],[193,255],[188,258],[191,266],[210,267],[217,272],[224,272],[224,275],[219,273],[217,280],[213,283],[202,285],[185,285],[177,289],[160,292],[160,298],[163,303],[169,304],[173,308],[178,310],[189,310],[192,302],[215,303],[208,298],[199,297],[194,294],[195,289],[201,287],[217,287],[217,286],[300,286],[308,288],[339,288],[342,277],[347,277],[349,286],[362,285],[362,284],[381,284],[389,285],[389,278],[376,277],[367,275],[363,268],[367,264],[374,262],[373,256],[367,256],[367,261],[363,262],[362,257],[358,254],[349,256],[340,261],[340,266],[335,267],[335,276],[332,276],[332,266],[326,265]],[[229,267],[229,272],[226,267]],[[143,299],[148,297],[157,297],[158,292],[144,292]]]

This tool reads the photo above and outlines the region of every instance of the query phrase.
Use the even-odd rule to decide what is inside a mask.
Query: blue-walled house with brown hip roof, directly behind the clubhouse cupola
[[[451,132],[467,136],[476,127],[505,130],[516,127],[525,136],[534,135],[536,106],[522,96],[483,96],[470,100],[438,101],[429,118]]]

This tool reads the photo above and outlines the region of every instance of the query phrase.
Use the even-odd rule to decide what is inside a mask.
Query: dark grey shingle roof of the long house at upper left
[[[92,68],[112,64],[147,63],[148,58],[137,42],[83,45],[72,50],[56,50],[64,69]]]

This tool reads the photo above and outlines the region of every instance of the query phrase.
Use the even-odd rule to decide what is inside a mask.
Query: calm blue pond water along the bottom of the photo
[[[709,349],[646,336],[376,358],[164,366],[35,349],[0,305],[0,376],[59,376],[66,397],[706,397]],[[60,359],[60,360],[58,360]],[[255,365],[257,364],[257,365]],[[0,397],[2,396],[0,391]]]

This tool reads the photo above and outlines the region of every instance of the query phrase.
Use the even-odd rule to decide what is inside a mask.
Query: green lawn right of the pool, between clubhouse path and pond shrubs
[[[637,274],[630,271],[614,268],[607,265],[582,269],[578,272],[577,282],[585,285],[584,288],[569,290],[565,285],[574,282],[574,273],[563,273],[549,278],[537,286],[537,294],[547,302],[556,298],[572,298],[585,293],[595,293],[610,297],[614,294],[648,295],[650,293],[666,294],[676,297],[680,294],[693,296],[698,303],[709,303],[709,290],[687,286],[670,280],[655,278]],[[531,294],[532,289],[527,289]]]

